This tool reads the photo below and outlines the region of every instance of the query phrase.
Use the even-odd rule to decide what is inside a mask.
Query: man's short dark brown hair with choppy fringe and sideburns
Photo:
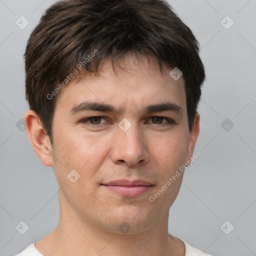
[[[161,73],[163,65],[182,71],[191,131],[205,79],[198,45],[191,30],[163,0],[59,1],[44,12],[28,39],[26,99],[53,143],[51,124],[60,93],[51,99],[47,95],[63,85],[88,54],[97,50],[82,65],[87,73],[96,73],[106,59],[114,66],[129,53],[150,55]]]

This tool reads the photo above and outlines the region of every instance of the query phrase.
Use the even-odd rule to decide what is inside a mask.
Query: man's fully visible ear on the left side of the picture
[[[24,116],[26,133],[34,152],[46,166],[53,166],[51,157],[51,144],[46,135],[38,115],[33,110],[28,110]]]

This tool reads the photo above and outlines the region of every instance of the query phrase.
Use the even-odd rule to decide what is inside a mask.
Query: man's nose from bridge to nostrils
[[[149,160],[147,141],[135,124],[126,131],[118,128],[113,139],[110,158],[114,163],[125,162],[129,166],[134,166]]]

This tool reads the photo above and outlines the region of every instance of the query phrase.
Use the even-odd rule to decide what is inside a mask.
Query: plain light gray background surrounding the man
[[[0,255],[14,255],[58,223],[58,186],[52,167],[16,127],[24,97],[26,40],[53,0],[0,0]],[[256,255],[256,2],[169,0],[200,43],[207,81],[202,87],[200,133],[170,209],[169,232],[213,255]],[[15,21],[25,16],[20,29]],[[234,24],[226,29],[226,16]],[[225,26],[230,20],[223,20]],[[225,130],[229,119],[234,124]],[[253,217],[252,217],[253,216]],[[23,235],[15,226],[25,221]],[[221,230],[224,225],[225,234]]]

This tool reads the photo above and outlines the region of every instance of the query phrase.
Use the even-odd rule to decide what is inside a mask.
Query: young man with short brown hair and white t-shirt
[[[60,218],[17,255],[208,255],[167,230],[184,169],[200,153],[205,79],[198,42],[171,7],[57,2],[24,57],[26,131],[54,168]]]

